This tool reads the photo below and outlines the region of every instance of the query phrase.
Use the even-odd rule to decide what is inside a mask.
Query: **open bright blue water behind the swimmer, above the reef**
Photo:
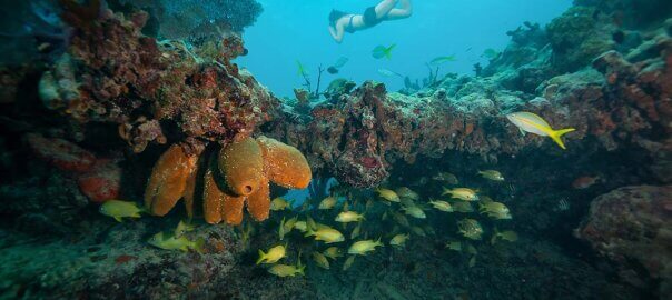
[[[340,57],[349,59],[339,74],[325,72],[326,84],[338,77],[357,83],[384,82],[388,90],[403,88],[398,77],[384,77],[388,69],[413,79],[424,78],[426,62],[436,57],[455,56],[456,61],[442,67],[442,73],[473,73],[474,63],[485,63],[483,51],[502,50],[510,41],[506,31],[523,22],[545,24],[564,12],[571,0],[423,0],[413,1],[411,18],[384,22],[375,28],[346,34],[336,43],[327,31],[332,9],[362,13],[378,1],[367,0],[260,0],[264,6],[257,22],[246,29],[245,46],[249,54],[237,62],[248,68],[274,93],[291,97],[293,88],[304,80],[297,74],[300,61],[315,81],[317,67],[327,68]],[[372,50],[379,44],[396,43],[392,60],[376,60]],[[324,83],[324,82],[323,82]]]

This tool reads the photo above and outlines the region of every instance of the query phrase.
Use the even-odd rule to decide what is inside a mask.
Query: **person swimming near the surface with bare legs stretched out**
[[[397,3],[401,8],[395,8]],[[354,33],[377,26],[382,21],[392,21],[411,17],[413,8],[411,0],[383,0],[374,7],[367,8],[363,14],[346,13],[332,10],[329,13],[329,33],[336,42],[343,41],[345,32]]]

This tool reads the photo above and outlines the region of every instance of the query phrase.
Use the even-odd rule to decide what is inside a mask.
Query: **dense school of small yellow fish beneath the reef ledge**
[[[490,187],[498,187],[505,181],[496,170],[478,170],[474,177]],[[305,259],[316,268],[330,270],[338,263],[345,271],[357,257],[381,251],[386,246],[391,250],[385,251],[396,251],[404,249],[413,239],[441,239],[427,221],[432,218],[454,223],[455,234],[443,239],[448,250],[468,257],[468,267],[476,263],[476,246],[484,236],[490,236],[490,244],[517,240],[517,233],[512,230],[500,231],[493,227],[488,231],[482,224],[483,219],[487,219],[487,224],[505,226],[503,222],[512,219],[506,204],[493,200],[480,189],[461,186],[458,178],[449,172],[436,173],[432,179],[444,186],[443,192],[426,200],[407,187],[360,191],[342,186],[333,188],[332,194],[324,199],[307,199],[300,207],[276,198],[271,201],[271,209],[280,214],[276,217],[280,220],[278,242],[258,250],[257,264],[269,264],[268,272],[278,277],[304,276],[300,252],[305,251]],[[386,230],[382,231],[381,224]],[[310,247],[305,246],[306,239],[312,240]],[[291,244],[302,244],[293,249],[299,253],[297,263],[280,263]]]

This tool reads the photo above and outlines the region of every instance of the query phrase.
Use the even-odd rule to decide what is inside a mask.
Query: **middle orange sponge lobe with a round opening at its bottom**
[[[259,189],[264,178],[261,148],[253,138],[233,142],[219,151],[219,171],[236,196],[250,196]]]

